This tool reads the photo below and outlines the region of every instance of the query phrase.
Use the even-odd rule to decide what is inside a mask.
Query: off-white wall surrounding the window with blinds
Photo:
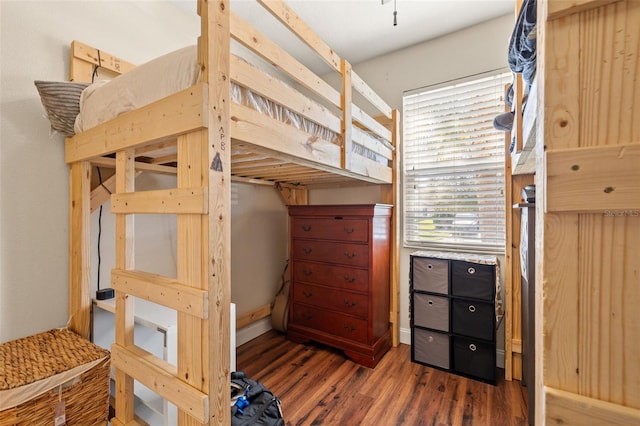
[[[357,64],[353,68],[391,107],[402,111],[402,95],[405,91],[499,68],[508,69],[507,46],[513,31],[513,19],[512,15],[506,15]],[[379,192],[375,190],[323,189],[312,191],[310,202],[368,203],[377,202],[379,198]],[[400,339],[403,343],[411,341],[409,255],[415,250],[403,247],[400,251]],[[501,272],[504,275],[504,268]],[[504,324],[498,330],[499,348],[504,348],[503,329]]]

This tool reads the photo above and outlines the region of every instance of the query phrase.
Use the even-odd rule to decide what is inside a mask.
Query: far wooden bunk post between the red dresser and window
[[[381,187],[381,199],[383,203],[393,205],[393,216],[391,218],[391,253],[389,256],[390,291],[389,298],[389,322],[391,323],[391,343],[397,347],[400,343],[400,112],[396,109],[391,111],[391,143],[393,151],[393,183]]]

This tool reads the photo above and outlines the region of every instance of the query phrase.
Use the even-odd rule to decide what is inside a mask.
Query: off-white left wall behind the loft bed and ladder
[[[68,167],[63,138],[50,134],[33,81],[67,79],[71,40],[143,63],[194,44],[199,18],[161,0],[2,0],[0,31],[0,342],[4,342],[64,326],[68,315]],[[152,185],[153,179],[142,175],[138,183]],[[248,253],[244,259],[234,257],[232,265],[232,277],[245,283],[243,287],[234,282],[232,297],[242,293],[239,313],[248,309],[247,304],[253,308],[271,301],[287,246],[288,218],[275,190],[246,187],[237,185],[239,204],[232,208],[239,218],[234,216],[232,234],[240,234],[234,245]],[[157,233],[166,240],[175,219],[156,218],[155,224],[162,232],[153,224],[140,224],[136,234]],[[250,226],[256,226],[255,232],[249,232]],[[97,229],[96,214],[92,227]],[[105,253],[111,237],[106,231],[103,237]],[[95,244],[92,248],[95,251]],[[170,248],[153,254],[138,244],[136,252],[138,266],[153,264],[167,273],[174,268],[168,262],[174,256]],[[103,257],[103,285],[109,280],[109,262],[108,256]],[[94,271],[94,280],[95,275]],[[263,288],[262,282],[271,286],[264,293],[255,290]],[[257,301],[252,301],[254,295]]]

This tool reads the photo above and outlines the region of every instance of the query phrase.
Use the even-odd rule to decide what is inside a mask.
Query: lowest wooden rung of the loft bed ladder
[[[117,343],[111,346],[111,362],[201,423],[208,419],[207,395],[180,380],[176,368],[168,362],[137,346],[124,347]]]

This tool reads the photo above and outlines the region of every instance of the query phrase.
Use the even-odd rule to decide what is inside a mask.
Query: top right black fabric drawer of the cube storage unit
[[[493,301],[495,292],[495,268],[463,261],[451,262],[451,294]]]

